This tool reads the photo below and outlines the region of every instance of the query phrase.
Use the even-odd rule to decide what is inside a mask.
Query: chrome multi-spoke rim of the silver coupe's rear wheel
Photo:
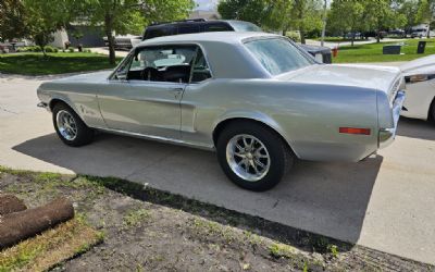
[[[263,178],[271,165],[264,144],[247,134],[236,135],[228,141],[226,161],[237,176],[248,182]]]

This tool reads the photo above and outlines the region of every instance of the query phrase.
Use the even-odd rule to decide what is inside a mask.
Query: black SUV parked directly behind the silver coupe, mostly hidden
[[[207,32],[263,32],[259,26],[237,20],[203,18],[184,20],[169,23],[153,24],[145,28],[142,40],[178,34],[194,34]],[[319,46],[299,46],[315,58],[319,62],[332,63],[331,48]]]

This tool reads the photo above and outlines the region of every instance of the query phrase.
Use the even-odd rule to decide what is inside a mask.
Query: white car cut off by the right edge
[[[435,54],[400,66],[407,84],[401,115],[435,121]]]

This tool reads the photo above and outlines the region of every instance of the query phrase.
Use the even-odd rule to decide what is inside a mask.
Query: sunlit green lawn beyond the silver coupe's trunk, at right
[[[351,62],[394,62],[410,61],[424,55],[435,53],[435,39],[423,39],[427,41],[424,54],[417,54],[417,46],[420,39],[407,39],[405,41],[381,42],[370,45],[355,45],[339,47],[338,55],[333,58],[334,63]],[[383,54],[382,48],[386,45],[397,45],[403,42],[401,53],[403,54]]]

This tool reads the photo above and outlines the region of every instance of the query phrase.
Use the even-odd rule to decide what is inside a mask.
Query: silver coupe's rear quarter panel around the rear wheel
[[[189,85],[182,101],[187,141],[213,145],[220,122],[246,118],[278,134],[300,159],[359,161],[377,150],[376,91],[276,79],[211,79]],[[339,134],[364,127],[371,135]]]

